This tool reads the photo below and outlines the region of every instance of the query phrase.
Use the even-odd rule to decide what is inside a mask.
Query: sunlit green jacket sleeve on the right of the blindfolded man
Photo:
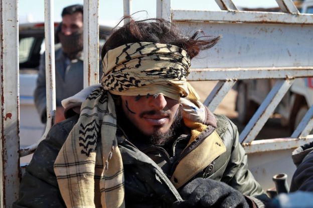
[[[247,153],[239,142],[237,126],[228,118],[227,120],[229,124],[225,133],[229,134],[232,138],[229,140],[232,144],[226,144],[226,146],[231,145],[231,152],[229,162],[221,180],[239,190],[244,195],[249,196],[249,198],[256,198],[254,202],[258,207],[264,206],[264,204],[260,204],[259,200],[267,202],[270,199],[265,194],[261,185],[255,180],[252,173],[248,170]]]

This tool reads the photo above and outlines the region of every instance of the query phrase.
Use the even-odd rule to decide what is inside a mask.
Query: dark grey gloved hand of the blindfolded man
[[[249,207],[244,196],[224,182],[196,178],[180,192],[184,201],[177,201],[173,208],[183,207]]]

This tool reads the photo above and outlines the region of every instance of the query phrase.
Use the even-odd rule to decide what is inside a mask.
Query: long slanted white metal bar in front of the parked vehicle
[[[267,94],[261,106],[252,116],[249,123],[239,135],[240,142],[248,143],[253,141],[260,132],[265,122],[277,107],[280,100],[286,94],[294,79],[278,80],[272,90]]]

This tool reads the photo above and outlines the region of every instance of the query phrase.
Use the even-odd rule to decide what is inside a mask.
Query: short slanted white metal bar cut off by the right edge
[[[308,109],[297,128],[293,131],[291,138],[307,136],[313,128],[313,105]]]

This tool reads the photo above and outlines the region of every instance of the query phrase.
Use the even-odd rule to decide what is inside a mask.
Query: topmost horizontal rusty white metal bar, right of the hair
[[[206,21],[229,23],[273,23],[312,25],[313,15],[286,14],[274,12],[230,12],[230,11],[189,11],[172,10],[173,21]]]

